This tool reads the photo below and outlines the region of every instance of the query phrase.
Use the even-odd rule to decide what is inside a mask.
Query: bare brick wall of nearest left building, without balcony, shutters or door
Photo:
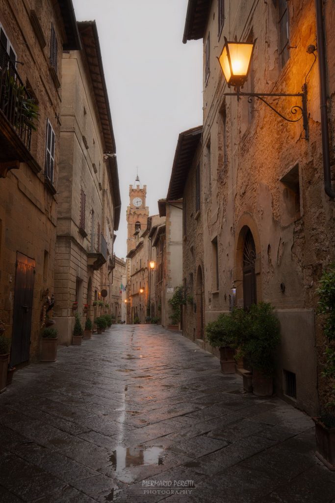
[[[36,39],[30,21],[35,9],[46,40],[44,48]],[[61,90],[51,76],[50,29],[54,26],[58,41],[58,78],[61,79],[61,57],[64,28],[57,3],[46,0],[18,0],[0,3],[0,23],[16,52],[17,71],[24,85],[39,105],[37,131],[32,133],[31,154],[34,170],[26,163],[9,172],[0,182],[0,318],[6,334],[12,336],[17,251],[34,259],[34,289],[31,324],[30,360],[39,358],[41,312],[46,296],[54,292],[54,258],[56,239],[57,196],[44,184],[46,130],[49,119],[55,131],[55,168],[53,185],[58,189],[59,122]]]

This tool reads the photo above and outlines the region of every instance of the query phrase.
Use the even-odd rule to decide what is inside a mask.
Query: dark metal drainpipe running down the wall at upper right
[[[320,112],[321,112],[321,137],[323,156],[324,192],[330,198],[335,198],[335,192],[331,189],[329,132],[328,132],[328,109],[326,92],[326,55],[324,47],[323,25],[323,0],[315,0],[316,11],[316,40],[318,52],[319,80],[320,80]]]

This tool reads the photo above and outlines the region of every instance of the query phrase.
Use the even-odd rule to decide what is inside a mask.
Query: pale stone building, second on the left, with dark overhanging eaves
[[[114,231],[121,207],[96,24],[80,22],[78,29],[83,50],[68,51],[62,60],[54,319],[60,343],[66,345],[75,313],[82,323],[86,316],[95,319],[101,311],[98,301],[110,311]]]

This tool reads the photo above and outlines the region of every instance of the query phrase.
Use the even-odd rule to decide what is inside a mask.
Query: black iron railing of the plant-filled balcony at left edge
[[[0,109],[16,133],[30,150],[32,109],[34,100],[29,95],[16,69],[15,61],[9,58],[0,45]],[[33,112],[34,113],[34,112]],[[34,113],[36,115],[36,111]]]

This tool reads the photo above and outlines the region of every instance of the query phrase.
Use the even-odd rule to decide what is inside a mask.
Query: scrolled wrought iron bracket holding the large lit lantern
[[[237,96],[238,101],[240,100],[240,97],[243,96],[248,96],[248,102],[251,103],[253,98],[257,98],[258,100],[261,100],[265,105],[271,110],[273,110],[279,117],[284,119],[287,122],[298,122],[302,119],[302,124],[303,124],[303,129],[305,131],[305,136],[304,139],[308,140],[308,114],[307,114],[307,84],[304,83],[302,86],[302,93],[244,93],[243,91],[240,91],[240,88],[235,88],[236,92],[235,93],[224,93],[225,96]],[[291,114],[296,114],[298,110],[301,111],[301,116],[298,119],[289,119],[288,117],[285,117],[282,115],[278,110],[276,110],[267,100],[265,100],[265,97],[289,97],[291,98],[292,96],[300,97],[301,98],[301,106],[299,105],[294,105],[291,108]]]

